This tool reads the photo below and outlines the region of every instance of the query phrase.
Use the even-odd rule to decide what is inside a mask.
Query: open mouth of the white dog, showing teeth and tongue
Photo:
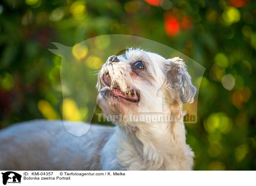
[[[109,73],[106,72],[102,76],[102,84],[105,86],[104,89],[111,91],[113,93],[113,96],[125,99],[129,102],[139,102],[140,101],[140,94],[137,90],[134,89],[128,89],[125,93],[122,92],[122,90],[119,87],[119,84],[116,83],[116,81],[112,81],[111,77],[109,76]]]

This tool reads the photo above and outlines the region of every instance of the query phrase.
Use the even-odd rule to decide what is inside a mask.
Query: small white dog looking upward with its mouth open
[[[116,127],[91,125],[82,137],[62,121],[33,120],[0,131],[2,170],[192,170],[182,104],[196,88],[180,58],[141,49],[111,56],[98,75],[97,103]],[[175,116],[146,122],[143,116]],[[139,120],[122,116],[138,116]],[[68,122],[73,131],[87,124]]]

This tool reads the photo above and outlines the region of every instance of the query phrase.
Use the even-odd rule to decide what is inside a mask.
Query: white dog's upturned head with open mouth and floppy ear
[[[110,115],[165,112],[193,102],[196,93],[182,59],[133,48],[108,58],[97,87],[97,103]]]

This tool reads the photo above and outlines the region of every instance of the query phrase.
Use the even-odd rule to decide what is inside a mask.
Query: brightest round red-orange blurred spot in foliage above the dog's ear
[[[180,32],[180,25],[177,17],[167,15],[164,21],[164,29],[167,35],[175,36]]]

